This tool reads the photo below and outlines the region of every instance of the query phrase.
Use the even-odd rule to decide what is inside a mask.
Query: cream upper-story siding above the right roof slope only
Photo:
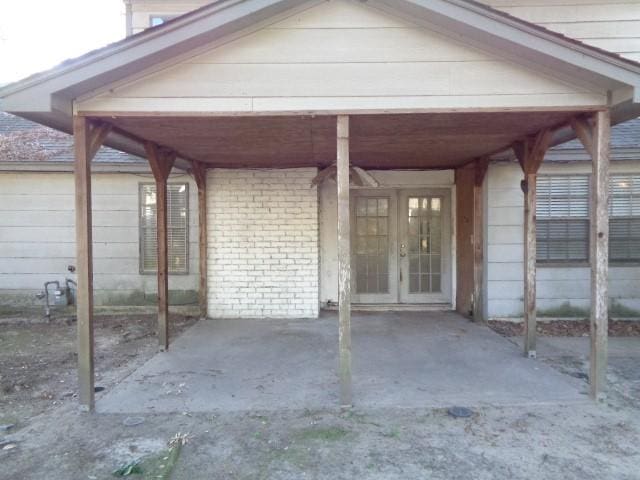
[[[640,61],[637,0],[480,0],[523,20]]]

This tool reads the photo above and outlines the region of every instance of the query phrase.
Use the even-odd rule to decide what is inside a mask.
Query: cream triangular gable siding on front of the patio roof
[[[330,1],[115,87],[80,111],[597,105],[591,92],[356,2]],[[225,110],[226,109],[226,110]]]

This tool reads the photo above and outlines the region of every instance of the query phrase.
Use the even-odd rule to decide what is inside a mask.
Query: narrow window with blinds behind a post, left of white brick
[[[168,256],[170,273],[189,271],[189,185],[167,185]],[[157,263],[156,186],[140,184],[140,272],[154,273]]]

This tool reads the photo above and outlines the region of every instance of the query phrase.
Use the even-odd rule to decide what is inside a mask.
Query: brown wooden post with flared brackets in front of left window
[[[145,144],[151,171],[156,181],[156,228],[158,244],[158,343],[169,348],[169,257],[167,242],[167,179],[175,162],[175,153]]]

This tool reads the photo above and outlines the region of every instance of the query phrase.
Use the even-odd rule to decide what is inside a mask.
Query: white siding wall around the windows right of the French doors
[[[611,173],[639,171],[638,162],[611,164]],[[540,173],[591,173],[591,164],[545,163]],[[515,163],[493,164],[487,174],[485,317],[488,319],[523,315],[524,196],[520,190],[521,180],[522,171]],[[589,309],[590,275],[588,265],[538,265],[538,311],[557,308],[566,302],[572,307]],[[620,305],[640,309],[640,265],[610,265],[609,297]]]

